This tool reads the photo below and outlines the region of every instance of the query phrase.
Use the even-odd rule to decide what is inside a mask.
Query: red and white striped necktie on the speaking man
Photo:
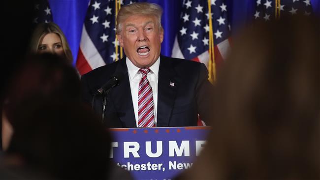
[[[142,78],[138,92],[138,127],[155,127],[155,113],[152,87],[147,79],[149,68],[139,69]]]

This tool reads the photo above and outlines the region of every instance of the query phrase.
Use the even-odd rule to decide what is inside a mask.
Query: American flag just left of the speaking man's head
[[[119,6],[133,2],[135,0],[90,1],[76,61],[81,75],[121,58],[116,39],[116,6],[119,9]]]

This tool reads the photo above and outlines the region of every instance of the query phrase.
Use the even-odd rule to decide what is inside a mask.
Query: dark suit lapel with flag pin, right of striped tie
[[[158,127],[169,125],[178,85],[179,82],[170,59],[161,56],[158,81]]]

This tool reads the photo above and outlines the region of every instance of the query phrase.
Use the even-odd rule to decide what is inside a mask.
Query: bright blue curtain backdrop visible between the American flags
[[[64,31],[69,42],[74,63],[77,58],[83,21],[86,16],[90,0],[49,0],[53,20]],[[171,56],[174,38],[180,21],[183,0],[138,0],[157,3],[163,8],[162,26],[164,40],[161,54]],[[320,16],[320,0],[311,0],[315,13]],[[241,26],[253,16],[256,0],[225,0],[232,33],[236,33]]]

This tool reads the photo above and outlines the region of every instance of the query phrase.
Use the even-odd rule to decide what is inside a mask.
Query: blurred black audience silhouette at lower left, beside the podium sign
[[[18,106],[3,161],[15,177],[106,179],[111,139],[91,109],[50,99],[25,99]]]

